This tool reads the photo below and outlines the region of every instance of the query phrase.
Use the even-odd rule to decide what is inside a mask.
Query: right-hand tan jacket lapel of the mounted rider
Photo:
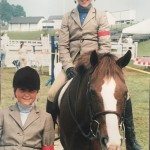
[[[82,27],[84,27],[94,17],[96,17],[96,10],[94,7],[91,7],[91,9],[89,10],[89,13],[87,14],[87,16],[84,20]]]

